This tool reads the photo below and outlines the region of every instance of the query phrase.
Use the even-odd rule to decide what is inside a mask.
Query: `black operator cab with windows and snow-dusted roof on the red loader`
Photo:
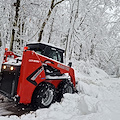
[[[46,43],[30,43],[27,44],[29,50],[34,50],[36,53],[52,58],[63,63],[64,50]]]

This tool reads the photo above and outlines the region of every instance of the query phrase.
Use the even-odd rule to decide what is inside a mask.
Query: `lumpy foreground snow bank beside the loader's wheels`
[[[82,115],[88,115],[91,113],[97,113],[102,111],[101,103],[89,96],[83,96],[78,94],[65,94],[64,99],[61,103],[55,103],[50,106],[49,109],[38,109],[27,115],[22,115],[21,117],[10,116],[9,118],[4,118],[4,120],[74,120],[74,118],[79,118]],[[75,119],[76,120],[76,119]]]

